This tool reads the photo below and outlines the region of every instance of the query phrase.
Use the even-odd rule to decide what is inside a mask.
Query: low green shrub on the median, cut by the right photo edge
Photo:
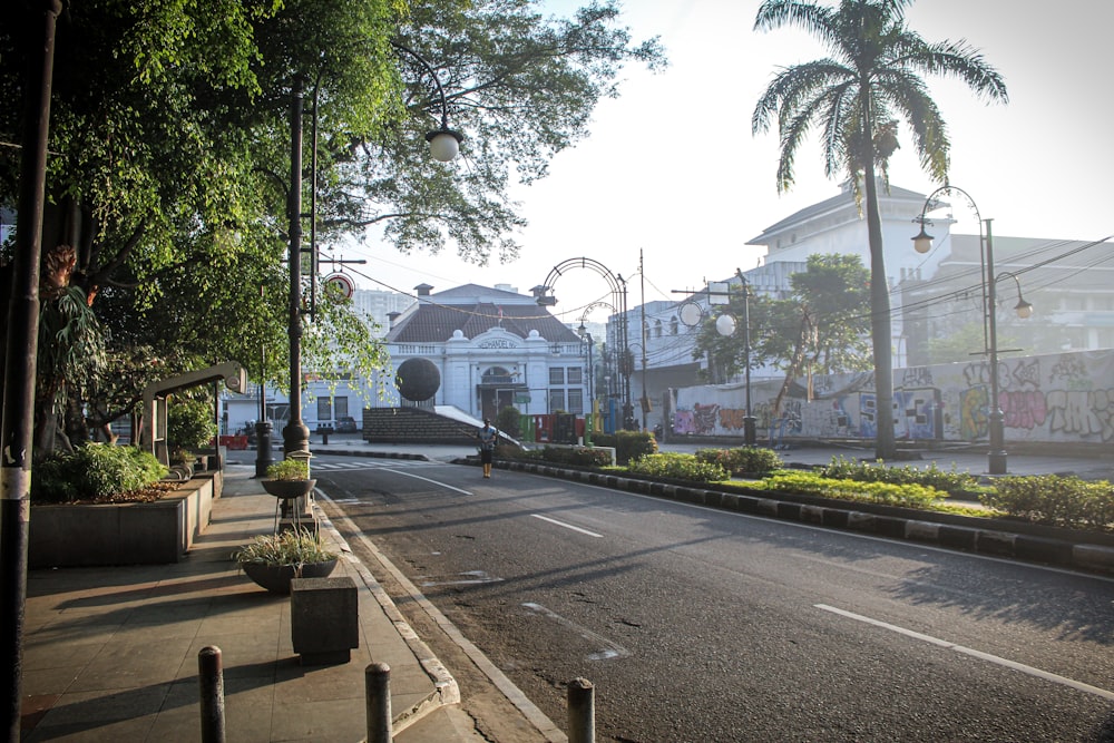
[[[980,497],[984,506],[1027,521],[1073,529],[1114,529],[1114,488],[1105,480],[1037,475],[1004,477]]]

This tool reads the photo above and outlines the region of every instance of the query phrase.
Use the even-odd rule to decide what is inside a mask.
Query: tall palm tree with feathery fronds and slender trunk
[[[764,0],[755,30],[798,26],[820,39],[831,56],[782,69],[754,107],[754,134],[776,118],[781,139],[778,190],[793,183],[793,156],[817,126],[823,137],[829,177],[850,176],[864,196],[870,245],[871,338],[877,393],[876,456],[892,458],[896,447],[889,411],[893,407],[890,300],[878,215],[878,170],[897,149],[899,117],[912,130],[921,167],[941,183],[948,177],[947,126],[928,96],[921,74],[954,76],[988,101],[1007,100],[998,72],[966,41],[928,43],[905,23],[912,0],[841,0],[828,8],[801,0]],[[858,190],[862,183],[863,192]]]

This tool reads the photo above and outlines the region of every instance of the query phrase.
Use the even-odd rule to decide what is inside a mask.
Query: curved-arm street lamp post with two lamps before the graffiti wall
[[[987,355],[990,362],[989,369],[989,382],[990,382],[990,399],[988,401],[990,407],[989,412],[989,438],[990,438],[990,450],[987,454],[987,471],[990,475],[1005,475],[1007,469],[1007,454],[1006,454],[1006,424],[1005,414],[1001,411],[1001,405],[998,399],[998,320],[997,320],[997,291],[996,285],[999,278],[1004,276],[1010,276],[1017,283],[1017,305],[1014,310],[1017,312],[1019,317],[1028,317],[1033,314],[1033,305],[1025,301],[1022,296],[1022,285],[1017,281],[1017,276],[1010,273],[1001,274],[1000,276],[995,276],[994,274],[994,234],[990,227],[991,219],[984,219],[983,215],[979,214],[978,206],[975,204],[975,199],[970,197],[962,188],[957,188],[956,186],[940,186],[925,199],[925,206],[920,211],[920,216],[916,218],[916,222],[920,223],[920,232],[912,238],[913,247],[918,253],[928,253],[932,248],[932,236],[925,231],[925,223],[928,222],[926,214],[935,208],[937,205],[934,199],[938,194],[945,192],[955,192],[964,196],[970,204],[971,208],[975,211],[975,217],[979,223],[979,251],[983,258],[983,313],[984,313],[984,330],[985,330],[985,349],[983,353]],[[986,233],[983,232],[983,226],[986,226]]]

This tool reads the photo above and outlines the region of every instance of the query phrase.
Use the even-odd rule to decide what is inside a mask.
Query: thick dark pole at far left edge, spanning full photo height
[[[39,338],[39,260],[42,255],[50,85],[59,0],[45,0],[41,53],[28,60],[23,89],[23,133],[19,172],[16,254],[4,353],[0,429],[0,674],[3,675],[4,730],[19,741],[23,678],[23,619],[27,604],[27,542],[30,520],[31,447],[35,428],[35,377]],[[28,29],[30,31],[30,29]]]

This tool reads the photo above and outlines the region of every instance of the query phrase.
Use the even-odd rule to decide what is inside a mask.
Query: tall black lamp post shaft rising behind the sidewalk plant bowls
[[[310,429],[302,422],[302,81],[294,84],[290,146],[290,422],[283,451],[310,451]]]

